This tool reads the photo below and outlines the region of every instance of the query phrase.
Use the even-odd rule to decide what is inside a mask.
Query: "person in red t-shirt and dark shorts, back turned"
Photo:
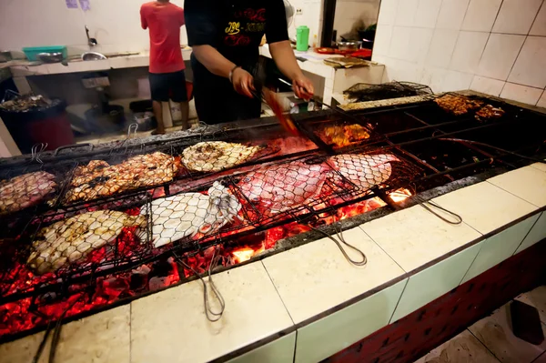
[[[180,27],[184,9],[169,0],[157,0],[140,7],[142,28],[150,33],[150,89],[157,119],[156,134],[165,134],[161,102],[171,98],[180,103],[182,125],[188,127],[186,76],[180,49]]]

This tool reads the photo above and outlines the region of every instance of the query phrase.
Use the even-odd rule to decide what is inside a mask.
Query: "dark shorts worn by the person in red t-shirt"
[[[150,73],[152,100],[168,102],[187,101],[186,76],[184,70],[173,73]]]

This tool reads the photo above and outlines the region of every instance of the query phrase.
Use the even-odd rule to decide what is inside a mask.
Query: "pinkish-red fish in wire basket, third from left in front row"
[[[300,160],[263,166],[243,177],[238,187],[252,203],[275,214],[316,197],[329,170],[325,163],[308,165]]]

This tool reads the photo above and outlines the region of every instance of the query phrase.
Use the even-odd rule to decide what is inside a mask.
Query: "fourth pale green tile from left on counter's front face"
[[[527,236],[538,218],[539,215],[529,217],[517,225],[509,227],[501,233],[483,241],[480,252],[462,279],[462,283],[477,277],[482,272],[490,269],[490,267],[500,264],[508,257],[511,257],[516,249],[520,247],[521,241]]]

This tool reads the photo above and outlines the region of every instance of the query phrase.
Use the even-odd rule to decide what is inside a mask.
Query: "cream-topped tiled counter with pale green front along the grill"
[[[66,324],[58,361],[317,362],[546,237],[541,164],[434,201],[463,222],[409,207],[344,232],[364,267],[323,238],[218,273],[226,312],[215,323],[199,280],[142,297]],[[0,362],[30,361],[43,334],[0,346]]]

